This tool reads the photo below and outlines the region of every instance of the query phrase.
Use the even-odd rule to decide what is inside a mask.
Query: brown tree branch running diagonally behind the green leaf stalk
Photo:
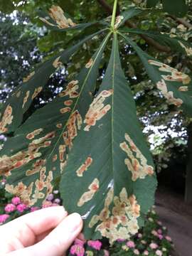
[[[110,4],[107,4],[105,0],[97,0],[97,2],[102,5],[102,7],[105,9],[105,11],[107,11],[108,14],[112,14],[112,7],[110,6]],[[119,15],[119,13],[120,11],[118,8],[117,15]],[[126,21],[125,24],[129,28],[137,28],[137,26],[134,23],[131,23],[130,21]],[[166,52],[166,53],[169,53],[171,51],[171,48],[169,48],[168,46],[162,46],[158,42],[154,41],[154,39],[149,38],[146,35],[141,34],[139,36],[143,38],[146,41],[146,43],[148,43],[150,46],[153,46],[154,48],[156,48],[156,50]]]

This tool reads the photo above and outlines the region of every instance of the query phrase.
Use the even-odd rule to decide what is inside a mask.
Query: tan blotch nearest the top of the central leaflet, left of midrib
[[[107,112],[111,109],[111,106],[104,105],[104,101],[107,97],[112,95],[113,90],[103,90],[100,92],[97,97],[92,101],[87,114],[85,115],[84,123],[87,124],[84,128],[84,131],[89,131],[91,126],[94,126],[98,120],[107,114]]]

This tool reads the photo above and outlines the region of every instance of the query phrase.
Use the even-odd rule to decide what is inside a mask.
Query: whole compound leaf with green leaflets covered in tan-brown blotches
[[[0,173],[7,176],[6,190],[30,206],[41,204],[60,180],[63,204],[70,213],[78,211],[85,219],[87,239],[103,236],[111,243],[122,237],[129,239],[143,225],[154,202],[156,177],[122,70],[119,46],[135,50],[161,95],[188,114],[191,78],[145,53],[134,42],[134,35],[161,38],[165,45],[188,56],[191,46],[183,39],[153,31],[129,30],[127,37],[128,31],[119,27],[127,19],[144,15],[138,8],[120,14],[115,23],[112,20],[112,27],[103,19],[97,21],[102,28],[97,27],[89,36],[86,29],[91,22],[76,25],[58,7],[52,11],[55,23],[48,28],[56,28],[62,35],[79,29],[80,33],[72,34],[72,45],[39,65],[4,105],[0,130],[13,136],[0,152]],[[80,72],[70,75],[68,85],[53,101],[24,120],[23,114],[50,76],[75,56],[78,59],[77,51],[94,38],[97,50],[91,58],[87,53],[90,60],[83,59]],[[107,70],[100,83],[97,78],[103,63]]]

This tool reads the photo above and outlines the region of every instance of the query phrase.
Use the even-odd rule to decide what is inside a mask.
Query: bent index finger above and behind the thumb
[[[0,238],[4,240],[1,252],[33,245],[38,235],[55,228],[66,215],[67,212],[63,206],[52,206],[28,213],[1,226]],[[13,240],[15,246],[13,246]]]

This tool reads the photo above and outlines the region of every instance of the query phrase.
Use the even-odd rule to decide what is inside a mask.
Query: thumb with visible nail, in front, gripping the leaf
[[[9,256],[60,256],[65,254],[82,230],[82,218],[78,213],[68,215],[36,245],[9,253]],[[7,256],[8,256],[7,255]]]

